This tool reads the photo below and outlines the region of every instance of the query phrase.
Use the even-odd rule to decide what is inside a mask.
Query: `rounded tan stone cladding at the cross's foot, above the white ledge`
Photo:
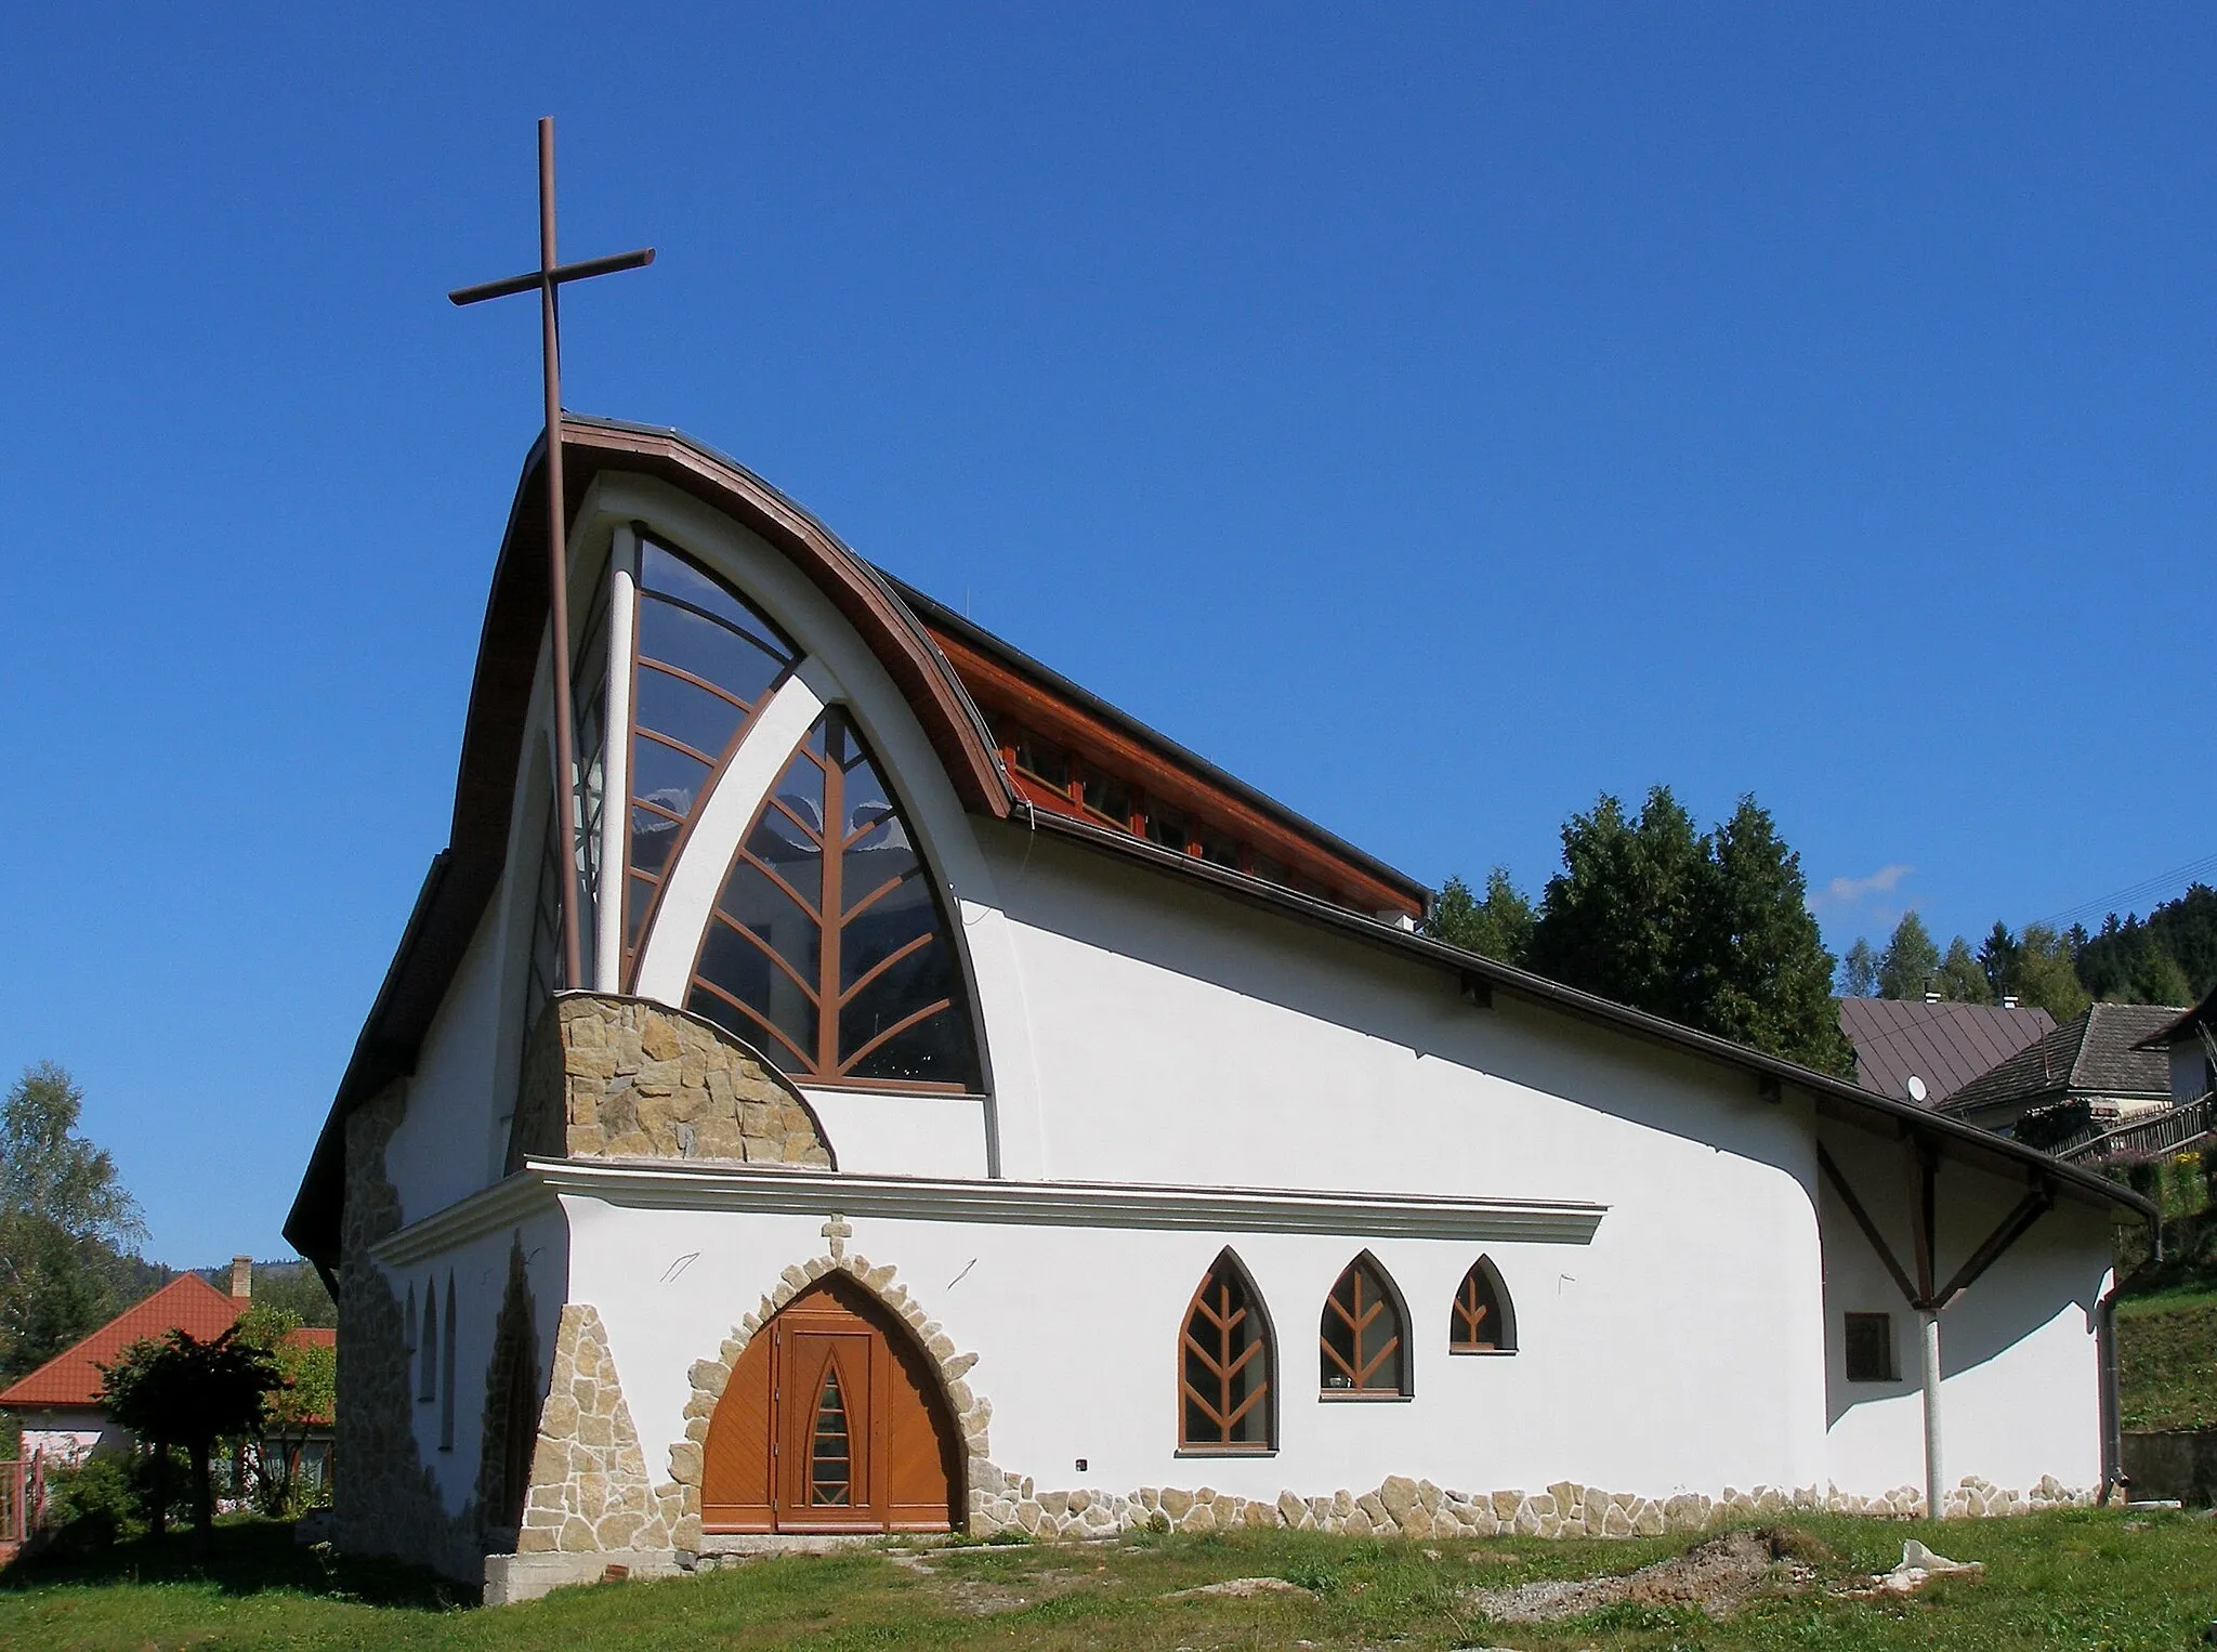
[[[816,1113],[758,1051],[643,998],[561,993],[523,1056],[508,1169],[661,1158],[836,1169]]]

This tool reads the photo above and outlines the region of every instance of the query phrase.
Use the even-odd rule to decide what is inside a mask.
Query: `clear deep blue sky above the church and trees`
[[[282,1251],[446,843],[541,113],[661,248],[570,406],[1417,876],[1656,781],[1833,947],[2213,847],[2217,16],[920,13],[11,20],[0,1071],[151,1255]]]

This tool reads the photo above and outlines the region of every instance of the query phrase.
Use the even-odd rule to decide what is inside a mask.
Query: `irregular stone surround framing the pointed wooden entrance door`
[[[851,1228],[842,1217],[834,1215],[825,1222],[823,1233],[825,1253],[785,1268],[776,1286],[754,1306],[754,1313],[732,1326],[732,1335],[723,1339],[716,1355],[712,1359],[696,1359],[692,1370],[687,1370],[692,1399],[685,1401],[685,1439],[670,1448],[670,1486],[665,1488],[676,1490],[683,1499],[672,1526],[678,1550],[701,1550],[701,1472],[707,1428],[716,1415],[716,1401],[723,1399],[725,1384],[732,1381],[738,1357],[787,1302],[834,1273],[854,1279],[891,1311],[916,1335],[918,1348],[922,1348],[927,1364],[938,1375],[940,1397],[947,1401],[947,1413],[953,1417],[956,1432],[962,1439],[962,1508],[967,1523],[975,1523],[982,1501],[1009,1483],[1007,1475],[993,1466],[987,1439],[987,1428],[993,1421],[993,1404],[973,1393],[969,1384],[969,1373],[978,1364],[978,1355],[956,1348],[944,1326],[924,1313],[907,1286],[893,1282],[896,1271],[891,1266],[871,1266],[869,1257],[847,1248]]]

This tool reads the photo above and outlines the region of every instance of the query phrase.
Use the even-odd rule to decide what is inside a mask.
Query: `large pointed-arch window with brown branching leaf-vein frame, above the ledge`
[[[687,1007],[794,1075],[978,1089],[931,869],[840,707],[809,730],[732,856]]]

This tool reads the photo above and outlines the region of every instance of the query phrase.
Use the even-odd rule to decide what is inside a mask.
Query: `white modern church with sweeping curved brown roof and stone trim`
[[[2102,1490],[2135,1195],[1428,940],[734,461],[559,441],[576,785],[539,443],[286,1224],[344,1548],[514,1599],[789,1534]]]

